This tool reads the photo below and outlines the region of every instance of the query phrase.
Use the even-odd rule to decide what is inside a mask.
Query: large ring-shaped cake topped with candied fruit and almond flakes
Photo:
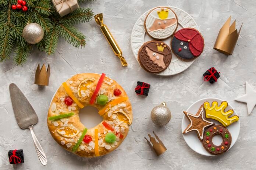
[[[87,129],[79,110],[93,106],[103,121]],[[105,74],[77,74],[58,88],[47,116],[51,136],[63,148],[83,157],[106,155],[124,141],[132,123],[125,90]]]

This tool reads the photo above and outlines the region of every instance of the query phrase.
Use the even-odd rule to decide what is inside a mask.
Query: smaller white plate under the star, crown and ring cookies
[[[217,101],[218,104],[220,104],[222,101],[221,99],[217,99],[217,98],[205,98],[205,99],[201,99],[196,101],[195,103],[193,103],[188,110],[186,110],[187,112],[191,113],[191,114],[196,114],[198,112],[198,109],[200,108],[200,106],[204,103],[208,101],[210,104],[213,101]],[[228,107],[225,110],[229,110],[229,109],[233,109],[234,108],[228,103]],[[237,115],[237,113],[234,110],[234,114],[233,115]],[[207,119],[211,122],[214,122],[217,125],[221,125],[220,122],[217,122],[213,119]],[[186,129],[186,127],[189,125],[189,121],[188,119],[185,117],[183,117],[182,122],[181,122],[181,133]],[[237,122],[232,123],[230,126],[226,127],[228,129],[228,131],[230,132],[231,136],[232,136],[232,142],[230,145],[230,148],[232,148],[232,146],[235,144],[235,142],[237,141],[239,132],[240,132],[240,120],[238,120]],[[189,133],[185,133],[182,134],[184,137],[184,140],[186,141],[186,143],[188,144],[188,146],[195,152],[197,152],[198,154],[201,155],[205,155],[205,156],[215,156],[210,154],[209,152],[206,151],[206,149],[203,147],[202,142],[199,140],[196,132],[189,132]],[[215,144],[220,144],[222,142],[222,138],[219,135],[216,135],[213,138],[213,143]],[[229,150],[228,149],[228,150]],[[228,151],[227,151],[228,152]],[[224,153],[225,154],[225,153]]]

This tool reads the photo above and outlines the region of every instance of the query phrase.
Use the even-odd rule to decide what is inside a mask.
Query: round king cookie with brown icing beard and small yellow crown
[[[171,49],[162,41],[148,41],[139,49],[138,60],[144,70],[159,73],[171,63]]]

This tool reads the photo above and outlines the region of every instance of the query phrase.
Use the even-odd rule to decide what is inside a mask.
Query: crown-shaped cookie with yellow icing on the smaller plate
[[[227,127],[231,125],[231,123],[237,122],[239,117],[237,115],[234,115],[233,117],[230,117],[234,111],[228,110],[225,112],[225,108],[228,107],[228,102],[223,101],[221,102],[220,106],[218,106],[217,101],[213,101],[213,103],[210,106],[210,103],[207,101],[204,104],[205,107],[205,116],[209,119],[214,119],[218,122],[220,122],[223,126]]]

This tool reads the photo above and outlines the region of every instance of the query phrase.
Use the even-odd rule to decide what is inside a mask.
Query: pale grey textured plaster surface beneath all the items
[[[85,4],[81,4],[83,6]],[[130,35],[132,27],[143,12],[159,5],[181,8],[192,15],[205,38],[205,51],[184,72],[159,77],[146,73],[132,55]],[[84,49],[75,49],[63,39],[56,53],[47,56],[34,50],[28,62],[15,66],[12,61],[0,64],[0,169],[15,169],[9,165],[9,149],[24,149],[25,163],[17,169],[255,169],[256,149],[256,109],[247,115],[246,104],[234,101],[245,93],[245,81],[256,86],[256,41],[255,14],[253,0],[96,0],[87,3],[95,14],[103,12],[104,22],[111,30],[129,64],[124,68],[113,55],[107,41],[94,21],[78,25],[88,36]],[[218,30],[232,15],[237,19],[237,27],[243,22],[241,34],[232,56],[225,56],[213,49]],[[39,63],[51,66],[50,85],[39,88],[33,84],[35,69]],[[214,85],[203,81],[202,74],[215,66],[221,77]],[[100,158],[79,158],[61,148],[50,136],[46,125],[48,106],[58,86],[77,73],[106,73],[117,80],[131,99],[134,120],[130,132],[121,146],[109,155]],[[152,85],[148,97],[136,96],[136,81]],[[47,165],[39,162],[33,147],[29,129],[18,127],[11,106],[9,84],[14,82],[25,93],[35,108],[39,122],[34,132],[46,156]],[[205,97],[227,100],[236,109],[241,121],[241,131],[237,143],[227,153],[208,158],[190,149],[181,134],[182,111],[193,102]],[[150,111],[162,101],[166,101],[172,112],[170,123],[157,127],[150,120]],[[167,151],[157,157],[146,144],[144,136],[155,131],[167,147]]]

